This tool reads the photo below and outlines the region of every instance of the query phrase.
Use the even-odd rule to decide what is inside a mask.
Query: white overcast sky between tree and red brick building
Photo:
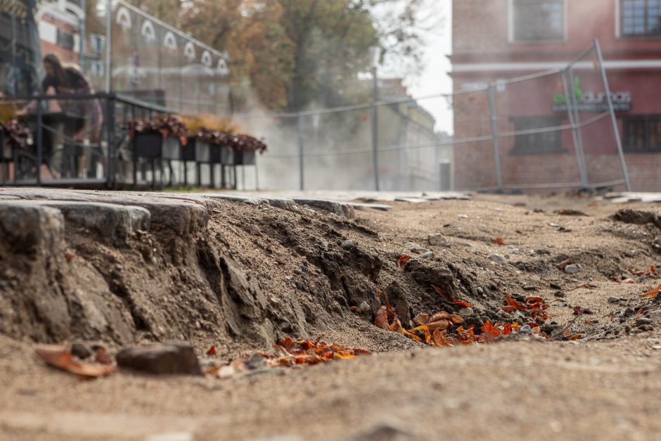
[[[418,77],[407,79],[406,85],[409,93],[416,96],[426,96],[452,91],[452,80],[447,75],[450,70],[450,61],[447,56],[452,51],[452,2],[438,0],[432,3],[437,8],[439,26],[437,32],[428,36],[428,45],[425,49],[425,69]],[[436,118],[436,129],[442,132],[452,132],[452,113],[448,103],[442,98],[422,100],[418,102]]]

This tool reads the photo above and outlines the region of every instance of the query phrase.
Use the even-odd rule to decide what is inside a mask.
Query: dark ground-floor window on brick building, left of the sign
[[[515,132],[557,127],[563,124],[561,117],[513,117]],[[556,153],[563,151],[562,132],[520,134],[514,137],[512,153]]]

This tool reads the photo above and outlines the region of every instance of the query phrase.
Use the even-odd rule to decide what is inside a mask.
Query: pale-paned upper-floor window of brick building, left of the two
[[[514,41],[565,39],[565,0],[511,0]]]

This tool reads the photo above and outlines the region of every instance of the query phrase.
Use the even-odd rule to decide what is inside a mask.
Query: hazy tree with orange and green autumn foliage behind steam
[[[164,21],[176,15],[184,32],[228,51],[235,89],[248,83],[268,108],[290,112],[360,99],[352,84],[370,69],[371,46],[380,47],[382,62],[418,68],[426,3],[134,0]]]

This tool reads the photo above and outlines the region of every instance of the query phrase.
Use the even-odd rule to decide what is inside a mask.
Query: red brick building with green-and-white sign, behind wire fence
[[[559,74],[499,80],[563,68],[597,38],[632,189],[661,189],[661,0],[454,0],[453,8],[451,76],[464,92],[453,101],[456,139],[492,133],[489,82],[500,133],[568,124]],[[567,84],[580,122],[602,117],[579,134],[591,185],[623,177],[594,60],[577,63]],[[571,130],[501,137],[499,151],[503,186],[581,183]],[[493,188],[495,162],[490,139],[456,146],[456,188]]]

